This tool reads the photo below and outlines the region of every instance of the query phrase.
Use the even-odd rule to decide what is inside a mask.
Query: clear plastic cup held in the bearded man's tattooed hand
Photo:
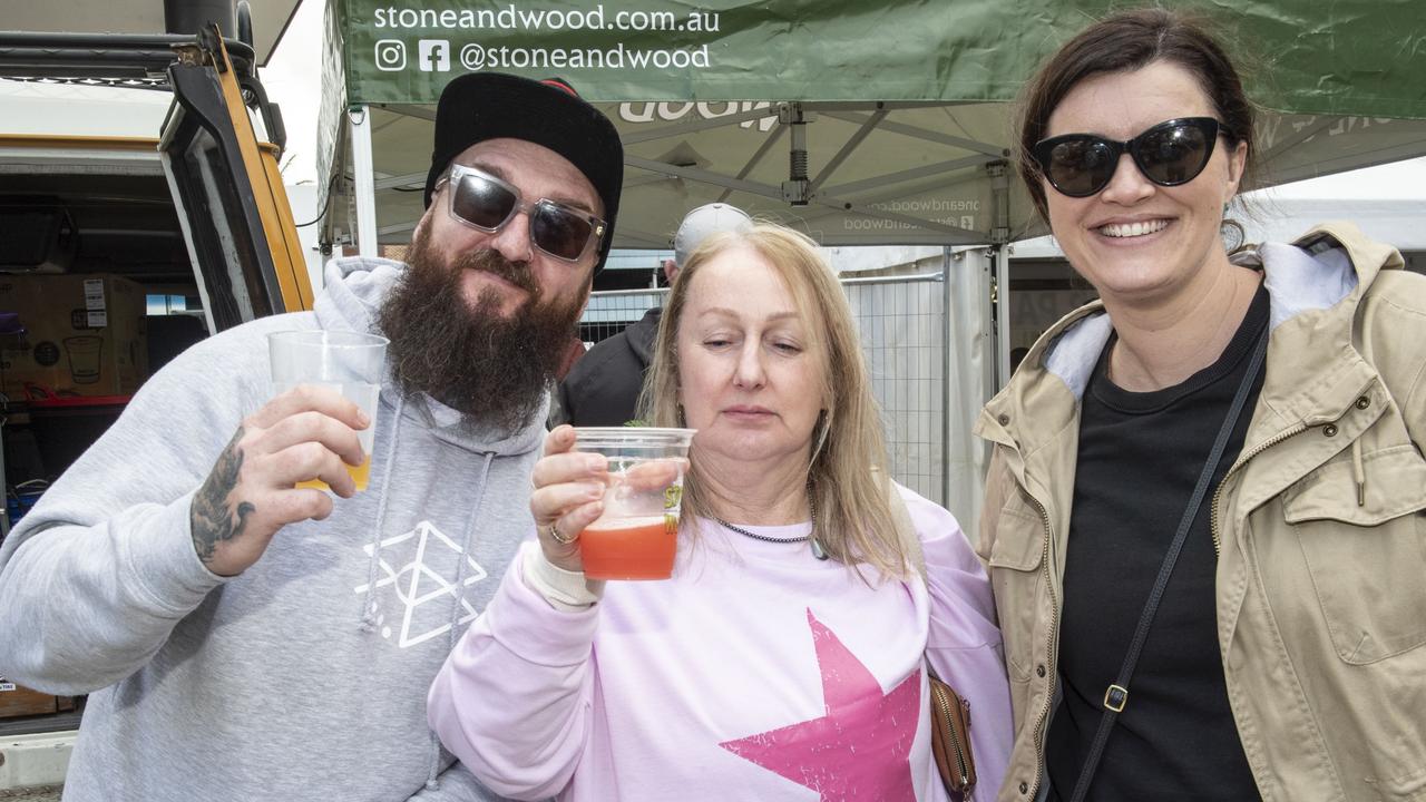
[[[356,331],[277,331],[268,334],[272,358],[272,395],[302,384],[328,387],[361,407],[371,425],[356,432],[362,464],[347,465],[358,491],[371,478],[371,450],[376,442],[376,400],[386,371],[386,338]],[[297,482],[299,488],[331,491],[318,478]]]

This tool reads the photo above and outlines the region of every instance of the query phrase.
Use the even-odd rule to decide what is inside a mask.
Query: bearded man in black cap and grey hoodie
[[[0,548],[0,675],[88,694],[67,801],[495,798],[428,731],[426,688],[532,529],[622,176],[566,84],[455,78],[409,264],[334,260],[314,311],[194,345],[44,494]],[[272,395],[267,337],[294,330],[389,338],[375,421]],[[314,477],[331,494],[294,487]]]

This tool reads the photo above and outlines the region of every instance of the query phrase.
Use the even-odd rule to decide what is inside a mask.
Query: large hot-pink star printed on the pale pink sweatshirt
[[[729,752],[821,795],[821,802],[915,802],[911,741],[921,712],[921,672],[881,692],[876,676],[807,611],[827,715],[720,743]]]

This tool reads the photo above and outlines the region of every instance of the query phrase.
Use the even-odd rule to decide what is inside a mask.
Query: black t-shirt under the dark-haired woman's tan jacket
[[[1050,725],[1050,799],[1070,799],[1164,555],[1212,451],[1253,345],[1268,293],[1253,297],[1216,362],[1176,387],[1129,392],[1105,375],[1105,345],[1084,394],[1060,625],[1062,704]],[[1209,515],[1242,451],[1262,374],[1214,472],[1178,557],[1124,712],[1088,799],[1259,799],[1228,706],[1218,649]],[[1058,795],[1058,796],[1057,796]]]

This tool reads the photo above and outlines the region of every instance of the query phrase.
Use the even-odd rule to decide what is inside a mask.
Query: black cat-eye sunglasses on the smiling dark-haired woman
[[[1179,117],[1128,141],[1094,134],[1050,137],[1037,143],[1030,154],[1051,187],[1072,198],[1085,198],[1109,184],[1125,153],[1149,181],[1161,187],[1186,184],[1208,167],[1218,134],[1232,137],[1212,117]]]

